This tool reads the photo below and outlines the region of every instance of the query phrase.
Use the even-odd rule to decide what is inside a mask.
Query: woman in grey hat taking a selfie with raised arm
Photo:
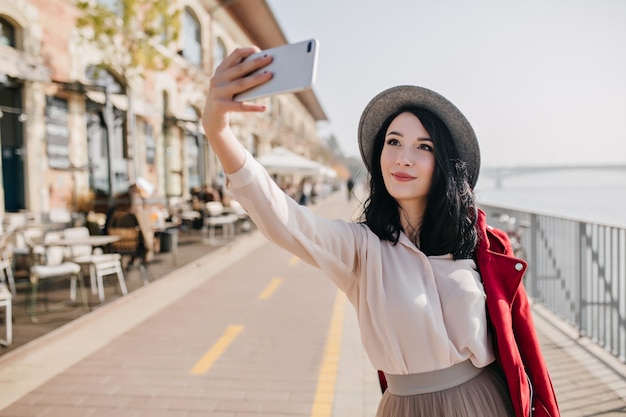
[[[229,112],[265,110],[233,100],[272,76],[247,75],[271,61],[243,62],[257,51],[237,49],[217,68],[205,133],[265,236],[321,268],[355,307],[388,386],[377,416],[558,416],[521,285],[526,265],[475,208],[480,153],[465,117],[424,88],[380,93],[359,124],[371,174],[364,219],[323,219],[287,197],[229,127]]]

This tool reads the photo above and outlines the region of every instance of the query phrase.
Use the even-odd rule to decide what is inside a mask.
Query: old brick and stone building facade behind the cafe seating
[[[199,120],[210,75],[239,46],[287,39],[265,0],[171,4],[180,32],[160,50],[167,68],[120,71],[79,36],[74,1],[0,0],[0,211],[76,211],[95,196],[104,212],[133,183],[167,203],[223,182]],[[233,115],[244,145],[255,156],[276,146],[311,156],[326,119],[314,93],[265,100],[263,114]]]

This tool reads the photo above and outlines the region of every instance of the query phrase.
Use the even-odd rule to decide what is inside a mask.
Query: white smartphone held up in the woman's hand
[[[311,88],[315,82],[318,49],[319,42],[317,39],[310,39],[277,46],[250,55],[246,60],[266,54],[272,56],[272,62],[258,71],[270,71],[273,77],[265,84],[237,94],[234,99],[250,101]]]

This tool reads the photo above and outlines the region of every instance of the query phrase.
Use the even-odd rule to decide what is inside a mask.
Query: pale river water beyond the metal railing
[[[568,170],[495,179],[476,185],[478,203],[626,227],[626,170]]]

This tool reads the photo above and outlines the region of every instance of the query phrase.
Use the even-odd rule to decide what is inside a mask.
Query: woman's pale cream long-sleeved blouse
[[[426,256],[404,234],[393,245],[366,225],[317,216],[283,193],[249,153],[228,178],[233,197],[268,239],[321,268],[346,293],[375,369],[403,375],[494,361],[473,260]]]

